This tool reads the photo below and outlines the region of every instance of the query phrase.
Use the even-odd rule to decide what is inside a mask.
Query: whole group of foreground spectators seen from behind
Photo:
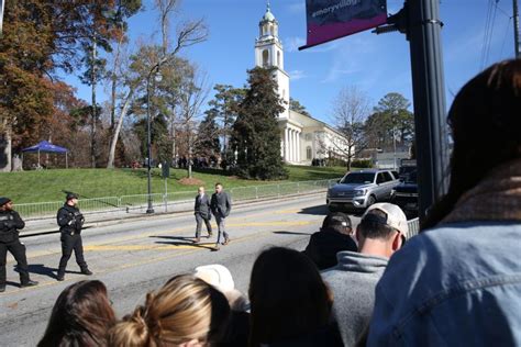
[[[448,192],[420,235],[406,239],[390,203],[356,230],[333,213],[303,251],[264,250],[247,298],[210,265],[121,320],[102,282],[80,281],[57,299],[38,346],[521,345],[521,59],[465,85],[448,124]]]

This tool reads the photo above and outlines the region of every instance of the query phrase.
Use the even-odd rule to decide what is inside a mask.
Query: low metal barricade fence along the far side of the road
[[[252,187],[235,187],[228,190],[232,200],[247,201],[266,198],[287,197],[301,193],[313,193],[325,191],[336,183],[337,179],[285,182],[277,184],[264,184]],[[191,203],[196,195],[195,190],[168,193],[152,193],[149,198],[156,211],[163,209],[168,212],[168,206],[181,203]],[[129,212],[131,210],[144,210],[148,203],[148,194],[134,194],[122,197],[103,197],[95,199],[80,199],[78,206],[84,214],[102,212]],[[16,211],[24,220],[36,220],[56,216],[56,212],[63,206],[63,201],[36,202],[16,204]]]

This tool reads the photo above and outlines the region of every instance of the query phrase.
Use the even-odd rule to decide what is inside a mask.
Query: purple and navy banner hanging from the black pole
[[[386,0],[307,0],[308,42],[302,48],[387,22]]]

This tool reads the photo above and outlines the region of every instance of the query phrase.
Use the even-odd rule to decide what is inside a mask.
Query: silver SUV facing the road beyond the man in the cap
[[[367,169],[345,175],[328,190],[326,204],[333,210],[361,210],[388,201],[400,181],[391,170]]]

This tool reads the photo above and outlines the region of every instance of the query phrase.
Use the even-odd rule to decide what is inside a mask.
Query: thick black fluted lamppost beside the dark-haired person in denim
[[[420,222],[447,191],[448,137],[437,0],[406,1],[410,41]]]

